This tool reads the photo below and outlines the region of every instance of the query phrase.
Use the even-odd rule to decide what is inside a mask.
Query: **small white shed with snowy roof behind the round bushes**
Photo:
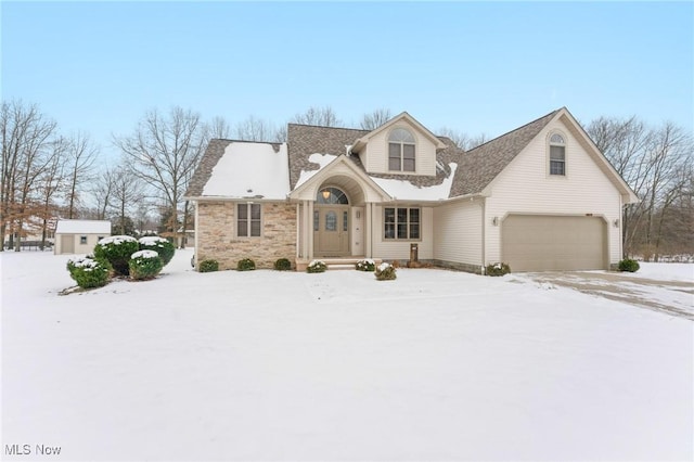
[[[90,254],[99,240],[111,235],[107,220],[59,220],[55,227],[55,255]]]

